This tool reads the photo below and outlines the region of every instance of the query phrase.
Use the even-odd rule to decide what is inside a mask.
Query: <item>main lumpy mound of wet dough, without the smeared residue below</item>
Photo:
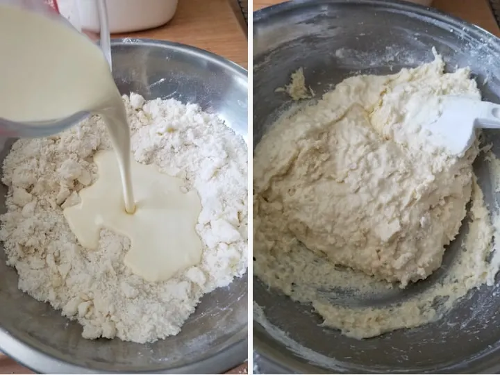
[[[480,99],[467,69],[443,69],[437,56],[354,76],[274,124],[254,157],[256,258],[277,259],[299,241],[403,287],[440,266],[466,215],[478,147],[453,158],[429,146],[415,110],[443,94]],[[269,274],[264,263],[257,274]]]

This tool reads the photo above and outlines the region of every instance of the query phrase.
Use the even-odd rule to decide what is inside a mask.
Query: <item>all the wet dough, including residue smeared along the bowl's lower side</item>
[[[429,322],[497,272],[487,262],[493,228],[472,171],[478,142],[451,157],[426,142],[415,119],[439,95],[481,98],[467,69],[443,72],[436,56],[390,76],[347,78],[281,117],[256,147],[254,270],[347,335]],[[363,299],[429,276],[471,199],[464,251],[441,283],[393,306],[332,301],[335,288]]]

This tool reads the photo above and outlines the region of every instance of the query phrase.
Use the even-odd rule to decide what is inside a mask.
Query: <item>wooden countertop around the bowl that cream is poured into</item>
[[[190,44],[228,60],[248,66],[247,38],[228,0],[181,0],[176,15],[167,25],[149,31],[113,37],[151,38]],[[244,363],[228,374],[247,374]],[[0,374],[33,374],[0,353]]]

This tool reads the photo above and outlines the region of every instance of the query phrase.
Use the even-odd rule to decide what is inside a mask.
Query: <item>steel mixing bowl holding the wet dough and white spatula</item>
[[[299,67],[320,97],[353,74],[390,74],[429,62],[435,47],[448,69],[471,67],[484,99],[500,102],[499,39],[435,10],[387,0],[301,0],[255,12],[253,25],[254,146],[290,106],[274,90],[288,83]],[[485,136],[500,155],[499,131],[485,131]],[[497,201],[483,157],[474,167],[487,202]],[[453,262],[466,227],[447,249],[443,267],[389,302],[438,282]],[[253,343],[261,369],[271,366],[270,372],[491,374],[500,372],[499,292],[498,285],[483,286],[438,322],[355,340],[320,326],[322,319],[311,306],[294,303],[254,278],[253,297],[265,319],[254,318]]]

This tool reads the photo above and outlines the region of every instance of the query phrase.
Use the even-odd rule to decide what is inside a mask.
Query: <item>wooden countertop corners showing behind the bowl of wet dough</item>
[[[283,1],[253,0],[253,10],[281,2]],[[481,26],[485,30],[490,31],[490,33],[500,37],[500,29],[492,15],[487,0],[434,0],[432,6],[443,12],[472,22],[472,24]]]

